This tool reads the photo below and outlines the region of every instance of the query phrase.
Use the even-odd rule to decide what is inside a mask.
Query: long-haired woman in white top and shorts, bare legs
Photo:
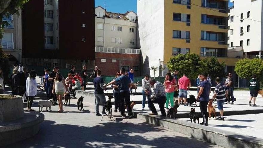
[[[58,112],[63,112],[63,104],[62,104],[62,96],[65,92],[65,80],[62,78],[62,74],[61,73],[56,73],[56,78],[54,80],[53,83],[53,94],[55,94],[55,90],[56,90],[56,98],[58,98],[59,100],[59,110]]]

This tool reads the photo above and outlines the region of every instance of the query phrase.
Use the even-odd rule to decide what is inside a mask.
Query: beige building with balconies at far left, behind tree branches
[[[21,14],[21,10],[19,10]],[[0,45],[4,53],[8,54],[11,63],[21,62],[22,58],[22,34],[21,34],[21,15],[4,16],[4,21],[8,26],[4,26],[3,38],[0,39]]]

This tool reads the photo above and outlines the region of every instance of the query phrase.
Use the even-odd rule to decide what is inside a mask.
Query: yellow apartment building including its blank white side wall
[[[178,54],[217,57],[233,71],[236,58],[227,52],[228,0],[137,0],[138,30],[144,72]]]

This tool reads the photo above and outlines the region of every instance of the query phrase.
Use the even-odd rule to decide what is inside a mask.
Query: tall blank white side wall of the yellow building
[[[143,72],[153,77],[154,72],[149,70],[149,68],[151,66],[158,66],[158,59],[163,61],[164,1],[137,0],[137,15],[140,46],[143,56]],[[158,71],[156,76],[158,76]]]

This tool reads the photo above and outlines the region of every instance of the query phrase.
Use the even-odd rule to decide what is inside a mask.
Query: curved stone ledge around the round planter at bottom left
[[[24,118],[0,124],[0,147],[36,135],[44,121],[40,112],[24,112]]]

